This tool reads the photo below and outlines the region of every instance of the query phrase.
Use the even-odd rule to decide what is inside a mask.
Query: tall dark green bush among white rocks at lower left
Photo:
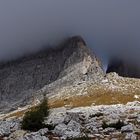
[[[24,130],[37,131],[45,127],[44,117],[49,115],[48,101],[45,98],[41,104],[26,112],[21,128]]]

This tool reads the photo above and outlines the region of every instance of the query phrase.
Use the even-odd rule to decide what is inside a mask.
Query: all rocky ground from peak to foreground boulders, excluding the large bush
[[[24,113],[48,97],[37,132],[21,129]],[[56,48],[0,64],[0,139],[140,139],[140,79],[105,73],[80,36]],[[119,127],[119,128],[118,128]]]

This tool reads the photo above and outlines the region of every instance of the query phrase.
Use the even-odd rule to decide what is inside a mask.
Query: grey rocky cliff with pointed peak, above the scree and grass
[[[54,81],[59,87],[102,76],[100,62],[84,40],[69,38],[56,49],[0,65],[0,111],[27,104],[36,91]]]

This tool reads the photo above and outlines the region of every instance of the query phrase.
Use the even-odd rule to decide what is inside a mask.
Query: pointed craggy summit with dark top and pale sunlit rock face
[[[69,80],[75,81],[82,78],[97,78],[97,75],[103,74],[100,62],[91,50],[86,46],[84,40],[77,36],[72,37],[66,41],[66,52],[71,52],[66,59],[63,70],[61,71],[59,78],[68,76]]]

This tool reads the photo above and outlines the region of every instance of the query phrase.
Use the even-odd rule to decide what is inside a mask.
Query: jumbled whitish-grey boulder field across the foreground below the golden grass
[[[119,120],[123,123],[117,125]],[[45,121],[51,130],[23,131],[20,121],[21,118],[1,120],[0,137],[3,140],[66,140],[85,136],[91,140],[139,140],[140,102],[52,109]]]

